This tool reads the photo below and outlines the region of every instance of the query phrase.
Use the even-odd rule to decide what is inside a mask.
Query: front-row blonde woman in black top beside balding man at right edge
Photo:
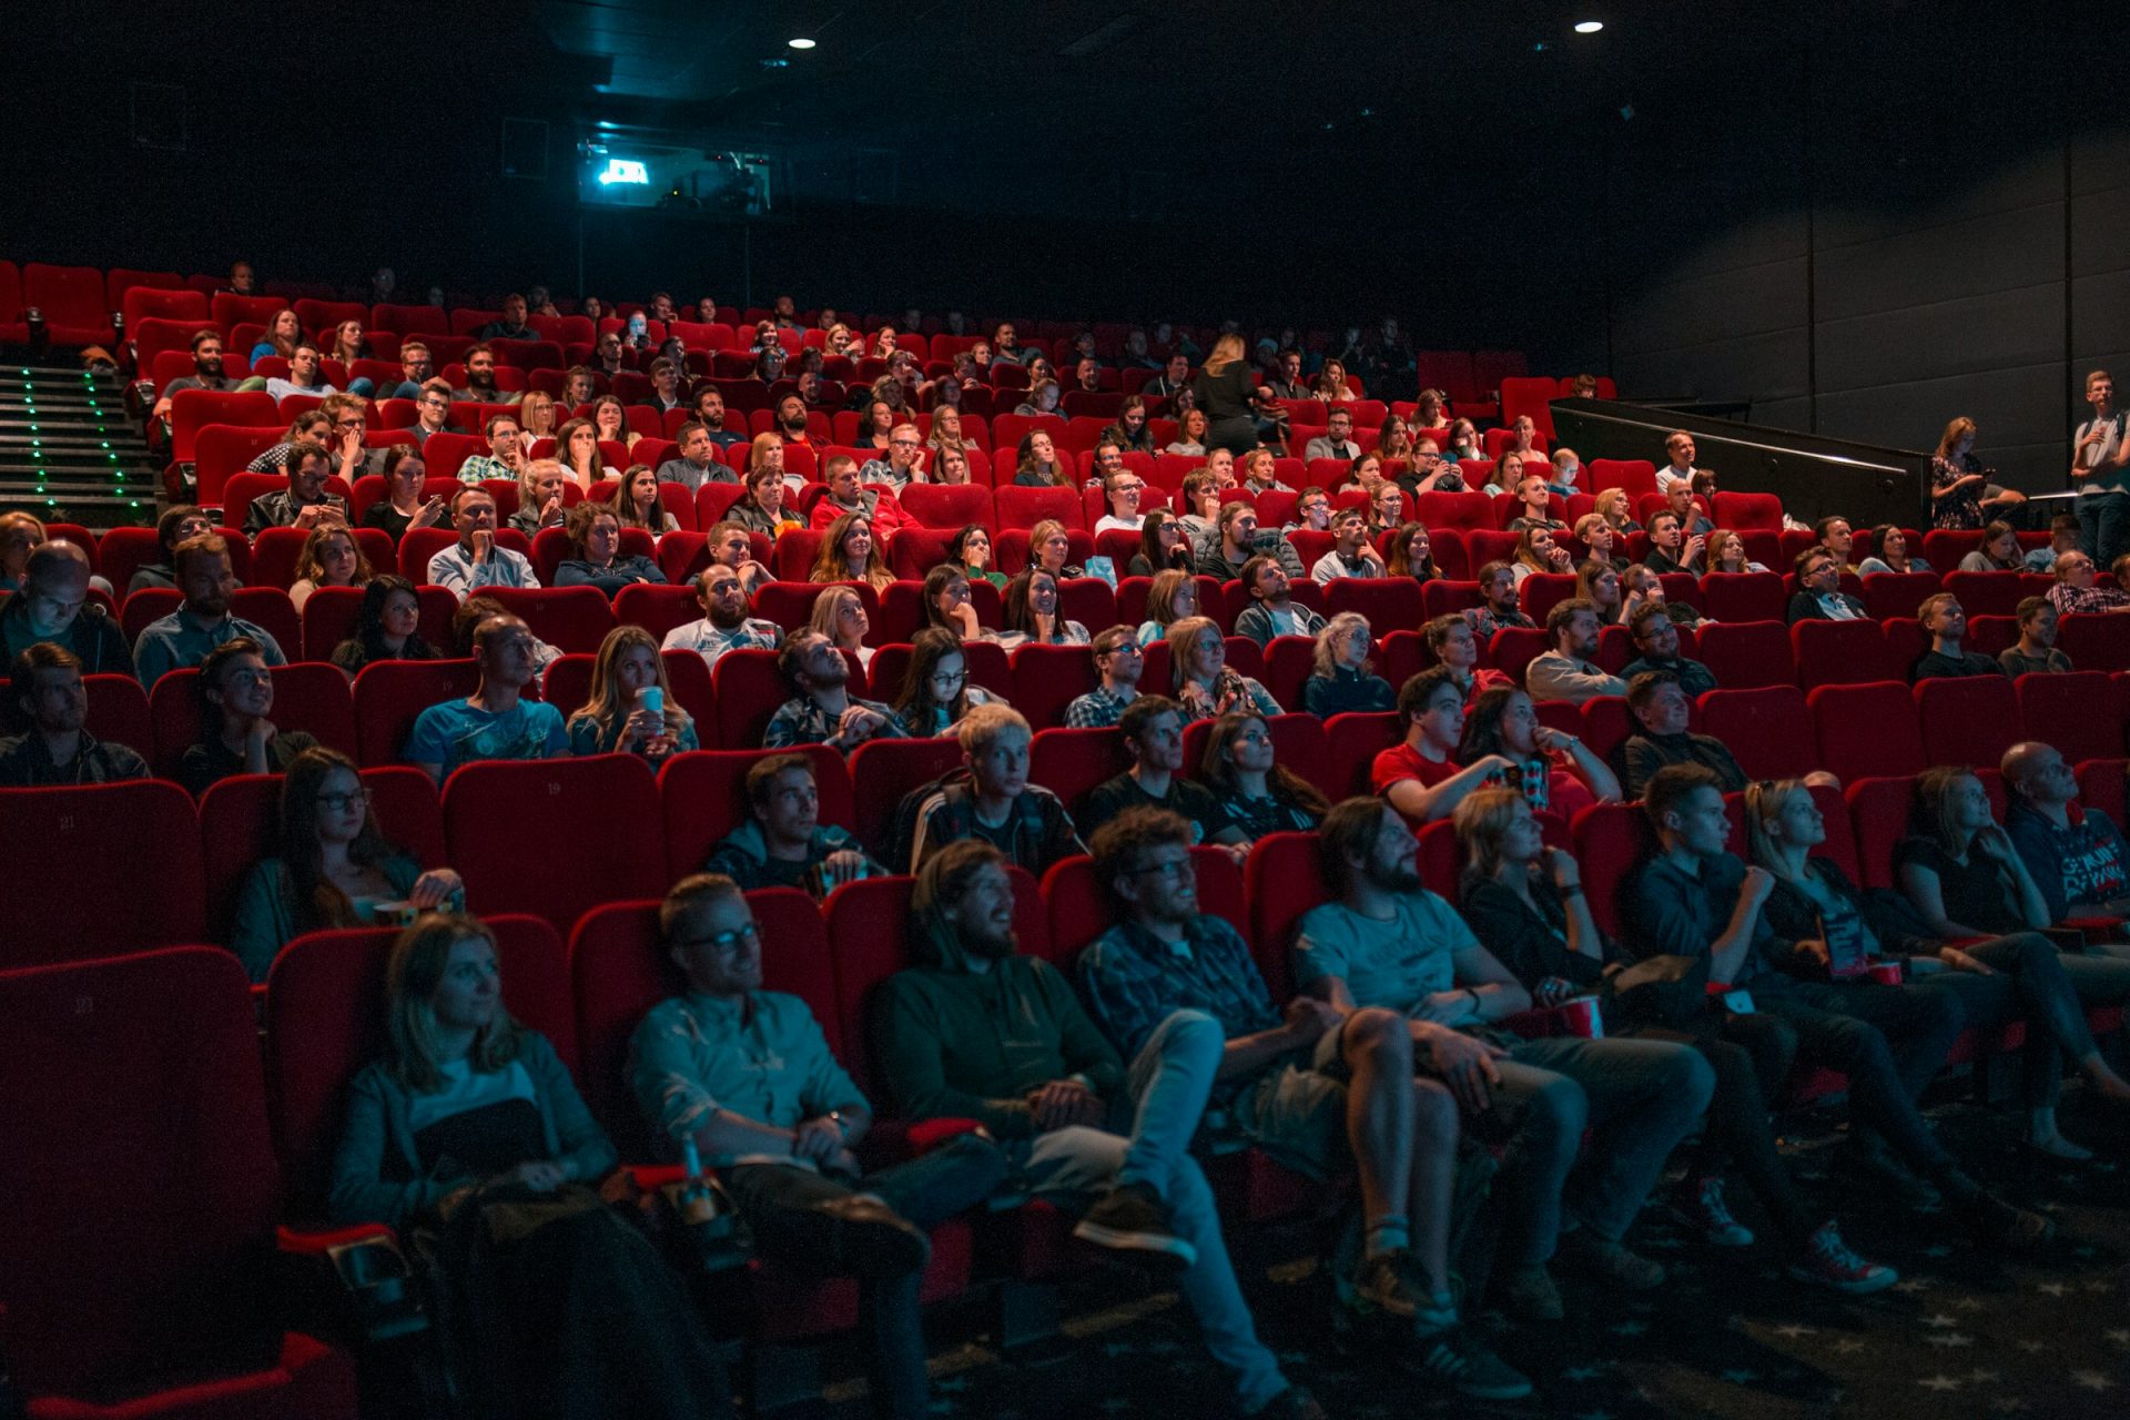
[[[1779,809],[1774,805],[1762,818],[1779,818]],[[1810,815],[1817,818],[1817,807]],[[1747,826],[1753,826],[1751,813]],[[2041,935],[2049,926],[2049,901],[1992,815],[1989,792],[1970,771],[1926,769],[1915,781],[1911,826],[1915,835],[1894,845],[1894,873],[1908,905],[1934,932],[1913,950],[1934,950],[1953,967],[1934,984],[1953,986],[1964,998],[1987,990],[1968,981],[1970,973],[1983,981],[1994,979],[1992,973],[2009,977],[2011,990],[1989,1003],[1994,1011],[1970,1001],[1968,1013],[1975,1024],[2028,1022],[2028,1141],[2058,1158],[2090,1158],[2055,1126],[2062,1058],[2077,1060],[2104,1099],[2130,1101],[2130,1084],[2109,1069],[2085,1026],[2085,1007],[2130,1001],[2130,960],[2104,952],[2064,954]],[[1781,818],[1772,843],[1783,843],[1791,828],[1791,820]],[[1810,837],[1808,822],[1796,830],[1800,839]],[[1819,877],[1825,881],[1828,873]]]

